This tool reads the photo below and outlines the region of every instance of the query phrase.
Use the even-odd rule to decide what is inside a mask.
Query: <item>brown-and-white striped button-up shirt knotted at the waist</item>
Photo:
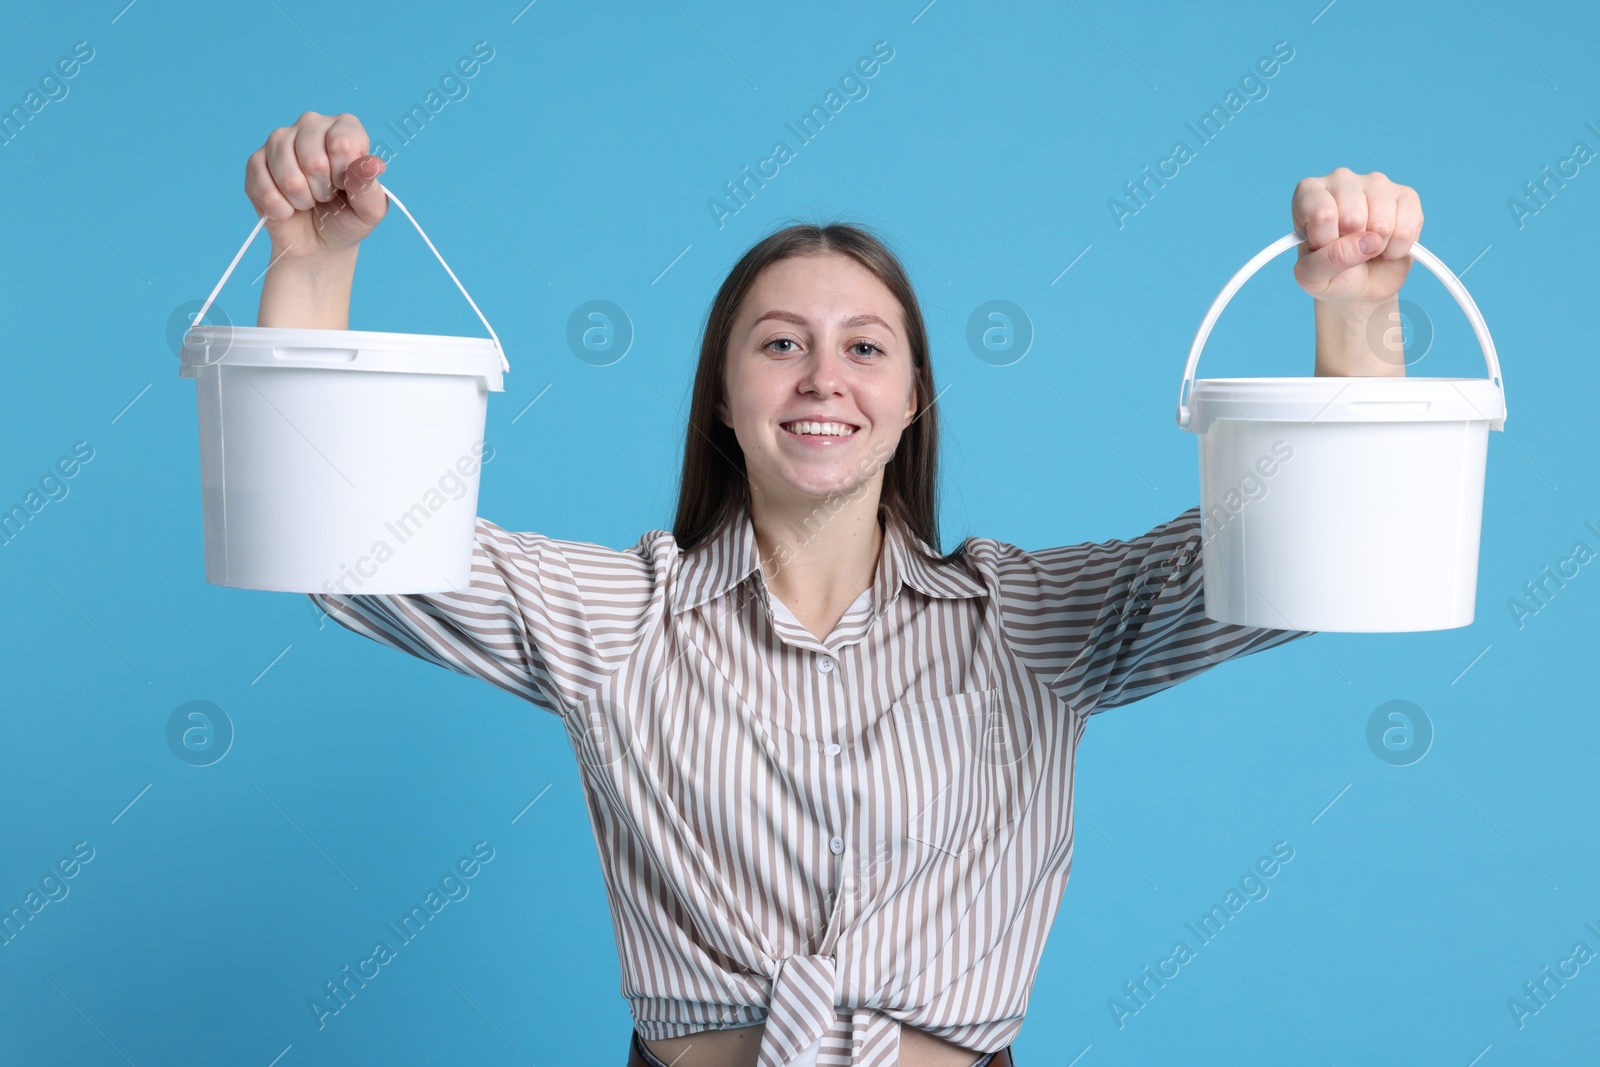
[[[826,640],[768,592],[747,512],[694,552],[480,517],[466,590],[310,597],[560,717],[646,1040],[765,1021],[762,1067],[880,1067],[906,1024],[997,1051],[1067,885],[1090,715],[1307,630],[1206,619],[1198,507],[947,563],[885,526]]]

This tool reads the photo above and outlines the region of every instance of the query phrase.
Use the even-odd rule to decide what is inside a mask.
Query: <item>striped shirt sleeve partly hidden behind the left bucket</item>
[[[478,517],[466,589],[307,595],[349,630],[560,715],[638,645],[670,555],[667,531],[618,550],[509,533]]]

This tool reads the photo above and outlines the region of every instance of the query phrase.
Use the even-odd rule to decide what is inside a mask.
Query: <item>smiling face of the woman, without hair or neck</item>
[[[842,253],[770,264],[734,317],[725,395],[717,414],[765,502],[803,504],[882,478],[917,414],[899,301]]]

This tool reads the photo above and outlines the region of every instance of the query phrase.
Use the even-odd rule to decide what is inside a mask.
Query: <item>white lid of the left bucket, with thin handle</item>
[[[192,326],[179,378],[208,366],[283,366],[390,374],[470,374],[504,392],[501,349],[488,338],[299,326]]]

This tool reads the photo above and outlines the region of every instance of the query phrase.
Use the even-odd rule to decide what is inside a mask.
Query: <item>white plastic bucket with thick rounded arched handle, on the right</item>
[[[1302,240],[1278,238],[1222,286],[1178,389],[1178,426],[1200,438],[1206,617],[1365,633],[1467,625],[1506,390],[1483,315],[1437,256],[1411,246],[1472,322],[1490,378],[1194,378],[1227,301]]]

